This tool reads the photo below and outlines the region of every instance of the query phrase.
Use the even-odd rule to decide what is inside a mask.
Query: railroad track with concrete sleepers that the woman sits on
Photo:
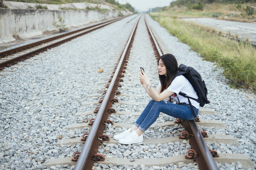
[[[161,40],[157,35],[153,35],[152,33],[154,31],[151,30],[149,26],[146,26],[146,17],[145,22],[142,19],[138,19],[136,25],[134,26],[134,29],[131,32],[131,35],[128,39],[128,42],[126,46],[124,47],[124,50],[119,56],[119,59],[113,59],[113,62],[116,62],[116,64],[110,64],[110,72],[107,73],[107,75],[110,75],[108,77],[108,81],[104,79],[103,82],[98,82],[99,87],[92,88],[92,90],[100,89],[102,94],[99,95],[99,93],[88,95],[87,97],[98,97],[98,101],[96,102],[84,102],[83,105],[95,105],[95,110],[91,110],[88,112],[79,112],[76,113],[75,116],[88,116],[88,115],[95,115],[97,114],[97,117],[95,119],[90,119],[88,122],[85,123],[79,123],[79,124],[72,124],[67,127],[67,129],[82,129],[84,127],[91,127],[90,133],[86,132],[82,135],[81,138],[72,138],[72,139],[64,139],[59,140],[57,143],[58,145],[73,145],[77,143],[84,143],[83,149],[79,153],[74,153],[73,158],[59,158],[59,159],[49,159],[46,160],[44,163],[44,166],[50,167],[54,166],[56,164],[64,165],[75,165],[75,170],[91,170],[93,168],[93,163],[97,164],[105,164],[105,165],[126,165],[133,167],[135,164],[145,165],[145,166],[165,166],[168,164],[178,164],[179,162],[184,163],[193,163],[197,162],[197,165],[200,169],[209,169],[209,170],[216,170],[218,169],[217,165],[215,164],[215,161],[222,162],[222,163],[231,163],[231,162],[237,162],[240,161],[244,167],[251,166],[250,160],[247,158],[247,156],[243,154],[228,154],[228,153],[219,153],[219,157],[213,158],[212,155],[217,156],[217,153],[213,151],[212,153],[209,151],[207,144],[204,142],[215,142],[215,143],[224,143],[224,144],[238,144],[238,141],[228,135],[210,135],[207,134],[207,132],[201,133],[198,126],[203,127],[204,129],[207,129],[207,127],[215,127],[215,128],[225,128],[225,124],[222,123],[219,120],[197,120],[197,122],[193,121],[185,121],[185,122],[179,122],[177,120],[174,121],[164,121],[164,122],[156,122],[154,125],[152,125],[149,128],[149,131],[151,131],[152,128],[154,130],[163,130],[171,127],[175,127],[176,130],[173,134],[165,134],[162,136],[162,138],[159,136],[156,136],[155,138],[146,137],[143,144],[141,145],[141,148],[143,149],[143,152],[148,152],[150,147],[148,147],[148,144],[152,145],[159,145],[162,146],[162,144],[166,146],[166,144],[175,143],[175,144],[183,144],[184,141],[186,143],[191,144],[191,148],[194,151],[188,150],[186,153],[187,155],[175,155],[172,156],[165,156],[162,158],[145,158],[145,159],[138,159],[129,157],[129,155],[133,155],[133,153],[123,153],[126,154],[129,159],[127,158],[118,158],[113,155],[111,155],[108,151],[110,150],[107,147],[110,147],[110,144],[118,144],[117,141],[113,140],[111,137],[114,135],[111,132],[111,128],[122,128],[122,127],[130,127],[130,122],[133,121],[133,119],[136,119],[135,117],[140,114],[140,110],[138,112],[136,111],[126,111],[126,110],[132,110],[134,105],[142,105],[142,108],[146,106],[148,102],[148,97],[145,95],[145,93],[141,93],[142,88],[139,86],[138,80],[136,81],[137,77],[134,75],[137,75],[136,73],[139,72],[139,68],[135,68],[134,65],[141,63],[143,66],[146,66],[146,72],[149,75],[153,75],[153,79],[155,82],[157,82],[157,73],[154,71],[156,68],[154,67],[154,64],[156,65],[156,60],[152,59],[150,56],[148,56],[149,61],[148,63],[143,63],[143,60],[140,60],[137,58],[133,53],[132,49],[136,48],[135,45],[133,45],[133,42],[135,41],[136,37],[136,29],[138,27],[145,27],[149,34],[151,34],[151,42],[152,42],[152,51],[154,50],[155,57],[158,58],[163,53],[168,53],[168,51],[165,51],[165,47],[161,44]],[[144,29],[145,29],[144,28]],[[158,39],[158,42],[156,41]],[[153,52],[152,52],[153,53]],[[148,61],[148,60],[147,60]],[[114,68],[114,69],[111,69]],[[137,69],[137,70],[136,70]],[[106,71],[106,70],[105,70]],[[152,81],[153,82],[153,81]],[[156,86],[156,84],[153,84],[153,86]],[[137,86],[134,88],[134,86]],[[129,89],[130,93],[122,93],[124,89]],[[119,92],[120,91],[120,92]],[[138,95],[142,96],[141,102],[129,102],[131,98],[136,98]],[[103,96],[103,97],[102,97]],[[123,111],[125,110],[125,111]],[[200,114],[207,115],[207,114],[216,114],[214,110],[211,109],[200,109]],[[115,117],[120,116],[123,118],[123,121],[113,121],[115,120]],[[164,114],[161,115],[164,117]],[[88,116],[89,117],[89,116]],[[111,120],[112,119],[112,120]],[[92,125],[91,125],[92,124]],[[187,132],[183,132],[183,129],[181,126],[183,124],[183,127]],[[198,126],[197,126],[198,125]],[[110,130],[108,130],[110,128]],[[152,132],[149,132],[152,133]],[[153,132],[154,133],[154,132]],[[181,135],[177,135],[181,134]],[[208,135],[208,137],[207,137]],[[180,136],[180,137],[179,137]],[[205,136],[205,138],[203,138]],[[158,138],[157,138],[158,137]],[[128,146],[129,147],[129,146]],[[171,151],[170,151],[171,152]],[[113,151],[112,151],[113,153]],[[103,156],[105,155],[105,156]],[[187,158],[186,158],[187,157]],[[188,159],[190,158],[190,159]],[[72,161],[73,160],[73,161]],[[77,161],[77,162],[76,162]]]

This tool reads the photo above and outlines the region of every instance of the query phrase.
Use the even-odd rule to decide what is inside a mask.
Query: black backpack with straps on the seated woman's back
[[[210,101],[208,101],[208,99],[207,99],[208,92],[207,92],[206,85],[205,85],[203,79],[201,78],[201,75],[192,67],[187,67],[184,64],[181,64],[179,66],[179,71],[175,74],[174,78],[176,76],[180,76],[180,75],[183,75],[186,79],[188,79],[188,81],[191,83],[191,85],[193,86],[194,90],[197,93],[198,99],[192,98],[182,92],[179,93],[183,97],[188,98],[188,102],[189,102],[190,108],[192,110],[192,113],[193,113],[194,117],[196,117],[195,112],[192,108],[190,99],[192,99],[196,102],[199,102],[199,105],[201,107],[203,107],[204,104],[210,103]]]

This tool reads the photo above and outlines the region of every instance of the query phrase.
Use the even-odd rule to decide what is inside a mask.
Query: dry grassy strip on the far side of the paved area
[[[176,17],[214,17],[217,19],[240,21],[240,22],[256,22],[256,2],[240,4],[204,4],[203,10],[195,10],[185,6],[168,6],[165,12]],[[255,8],[252,13],[247,8]]]

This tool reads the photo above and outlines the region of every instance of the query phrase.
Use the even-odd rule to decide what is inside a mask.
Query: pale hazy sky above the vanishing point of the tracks
[[[116,0],[120,4],[129,3],[138,11],[147,11],[149,8],[169,6],[173,0]]]

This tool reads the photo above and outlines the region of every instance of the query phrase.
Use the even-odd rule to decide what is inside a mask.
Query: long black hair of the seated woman
[[[173,54],[164,54],[158,59],[162,59],[165,68],[166,68],[166,76],[165,75],[159,75],[159,80],[161,82],[161,92],[163,92],[165,89],[171,85],[175,74],[178,71],[178,62]]]

